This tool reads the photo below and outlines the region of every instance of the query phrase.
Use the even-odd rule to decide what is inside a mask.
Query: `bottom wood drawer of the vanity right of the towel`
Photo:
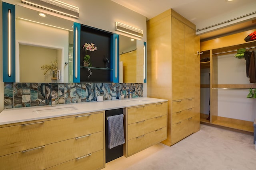
[[[143,149],[146,149],[147,147],[165,140],[167,137],[166,134],[166,127],[163,127],[162,129],[158,129],[156,131],[152,131],[140,137],[129,140],[127,142],[127,156],[135,154]]]

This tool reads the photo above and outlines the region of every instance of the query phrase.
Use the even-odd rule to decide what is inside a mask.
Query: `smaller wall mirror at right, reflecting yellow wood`
[[[119,35],[119,82],[144,82],[144,42]]]

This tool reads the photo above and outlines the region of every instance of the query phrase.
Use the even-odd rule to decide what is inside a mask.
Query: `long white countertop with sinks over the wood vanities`
[[[168,100],[156,98],[132,98],[125,100],[104,100],[103,102],[83,102],[74,104],[57,104],[52,106],[35,106],[35,107],[22,107],[14,109],[4,109],[0,113],[0,125],[9,123],[18,123],[24,121],[32,121],[39,119],[47,119],[52,117],[61,117],[67,115],[75,115],[80,113],[90,113],[95,111],[111,110],[118,108],[125,108],[131,106],[139,106],[144,104],[153,104],[158,102],[167,102]],[[71,111],[61,111],[58,109],[71,107]],[[51,113],[40,113],[38,111],[47,111],[54,109]]]

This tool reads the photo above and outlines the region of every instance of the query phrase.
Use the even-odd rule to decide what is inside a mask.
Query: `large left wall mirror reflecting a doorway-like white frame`
[[[15,6],[16,82],[72,82],[73,21]],[[60,80],[42,65],[57,60]]]

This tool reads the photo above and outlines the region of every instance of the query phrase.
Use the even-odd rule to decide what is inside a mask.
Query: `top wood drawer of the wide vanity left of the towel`
[[[103,112],[100,112],[2,127],[0,128],[0,156],[103,131],[103,120]]]

